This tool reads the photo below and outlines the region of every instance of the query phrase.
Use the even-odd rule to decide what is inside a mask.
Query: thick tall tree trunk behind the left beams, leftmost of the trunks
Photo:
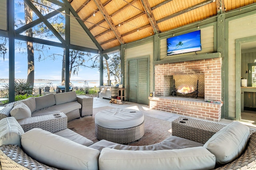
[[[24,3],[24,11],[25,11],[25,22],[26,24],[28,24],[32,22],[33,12],[26,3]],[[26,35],[28,37],[33,37],[32,28],[26,31]],[[32,42],[26,41],[26,43],[27,43],[27,52],[28,52],[27,83],[34,86],[34,48],[33,48]]]

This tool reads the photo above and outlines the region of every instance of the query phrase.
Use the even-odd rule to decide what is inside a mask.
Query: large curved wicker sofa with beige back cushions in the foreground
[[[167,170],[170,168],[246,170],[256,168],[256,133],[242,123],[235,122],[227,126],[214,123],[212,126],[212,123],[202,121],[207,127],[202,132],[200,128],[191,126],[181,128],[184,124],[181,122],[175,123],[175,134],[187,133],[189,138],[193,136],[193,140],[203,139],[206,143],[171,136],[161,143],[148,146],[128,146],[102,140],[86,147],[36,128],[20,135],[21,147],[14,143],[2,145],[0,162],[3,170]],[[230,148],[236,148],[235,152],[230,150],[226,152]],[[61,152],[57,152],[58,150]],[[224,157],[220,155],[223,150],[225,150]],[[223,161],[227,162],[223,163]]]

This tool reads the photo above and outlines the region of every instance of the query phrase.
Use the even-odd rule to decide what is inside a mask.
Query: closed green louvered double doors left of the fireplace
[[[128,101],[149,104],[149,57],[128,61]]]

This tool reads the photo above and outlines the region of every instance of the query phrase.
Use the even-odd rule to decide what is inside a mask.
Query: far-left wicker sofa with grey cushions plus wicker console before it
[[[68,121],[80,118],[80,111],[92,110],[92,106],[82,105],[83,100],[79,99],[74,91],[30,97],[7,104],[0,110],[0,119],[15,117],[25,132],[38,127],[54,133],[66,129]]]

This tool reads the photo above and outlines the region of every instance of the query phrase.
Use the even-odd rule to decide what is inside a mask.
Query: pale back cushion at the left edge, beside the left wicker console
[[[21,147],[20,138],[23,133],[22,127],[14,117],[0,120],[0,146],[12,144]]]

